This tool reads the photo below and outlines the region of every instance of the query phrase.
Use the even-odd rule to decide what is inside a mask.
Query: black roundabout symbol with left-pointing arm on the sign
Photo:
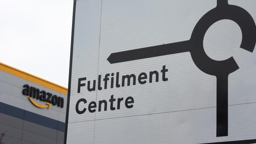
[[[228,136],[228,75],[238,70],[239,67],[233,57],[216,61],[208,57],[203,48],[203,39],[208,28],[223,19],[229,19],[238,24],[242,31],[240,48],[253,52],[256,42],[256,26],[251,15],[239,6],[229,5],[228,0],[217,0],[217,6],[197,22],[190,40],[112,53],[107,60],[113,64],[190,52],[195,65],[200,70],[217,78],[216,136]]]

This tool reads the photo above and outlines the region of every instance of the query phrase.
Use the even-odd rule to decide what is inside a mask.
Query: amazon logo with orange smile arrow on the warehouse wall
[[[57,95],[53,95],[52,93],[48,93],[44,90],[39,90],[38,88],[35,88],[33,86],[24,85],[24,89],[22,90],[22,94],[29,96],[28,99],[30,102],[39,108],[47,108],[50,109],[51,104],[57,105],[58,107],[63,108],[64,105],[64,98],[58,97]],[[42,102],[46,102],[45,105],[39,105],[36,103],[33,99],[40,100]]]

